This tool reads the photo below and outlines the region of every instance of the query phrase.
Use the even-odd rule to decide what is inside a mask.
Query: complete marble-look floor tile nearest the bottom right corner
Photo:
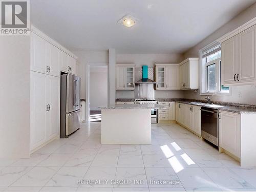
[[[219,188],[253,188],[229,168],[203,168],[203,170]]]

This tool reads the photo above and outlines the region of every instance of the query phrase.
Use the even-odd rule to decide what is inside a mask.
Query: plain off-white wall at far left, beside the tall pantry
[[[0,36],[0,158],[29,157],[30,37]]]

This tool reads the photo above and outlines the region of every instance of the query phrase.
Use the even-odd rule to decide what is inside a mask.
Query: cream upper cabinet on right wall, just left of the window
[[[199,89],[199,58],[187,58],[180,63],[180,89]]]

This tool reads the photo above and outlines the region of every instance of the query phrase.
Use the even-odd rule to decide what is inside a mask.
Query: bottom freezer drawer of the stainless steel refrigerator
[[[66,114],[66,136],[80,128],[79,110]]]

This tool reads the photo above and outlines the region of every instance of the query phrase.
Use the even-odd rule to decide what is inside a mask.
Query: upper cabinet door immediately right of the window
[[[237,74],[237,38],[232,37],[221,44],[221,81],[222,84],[236,83]]]

